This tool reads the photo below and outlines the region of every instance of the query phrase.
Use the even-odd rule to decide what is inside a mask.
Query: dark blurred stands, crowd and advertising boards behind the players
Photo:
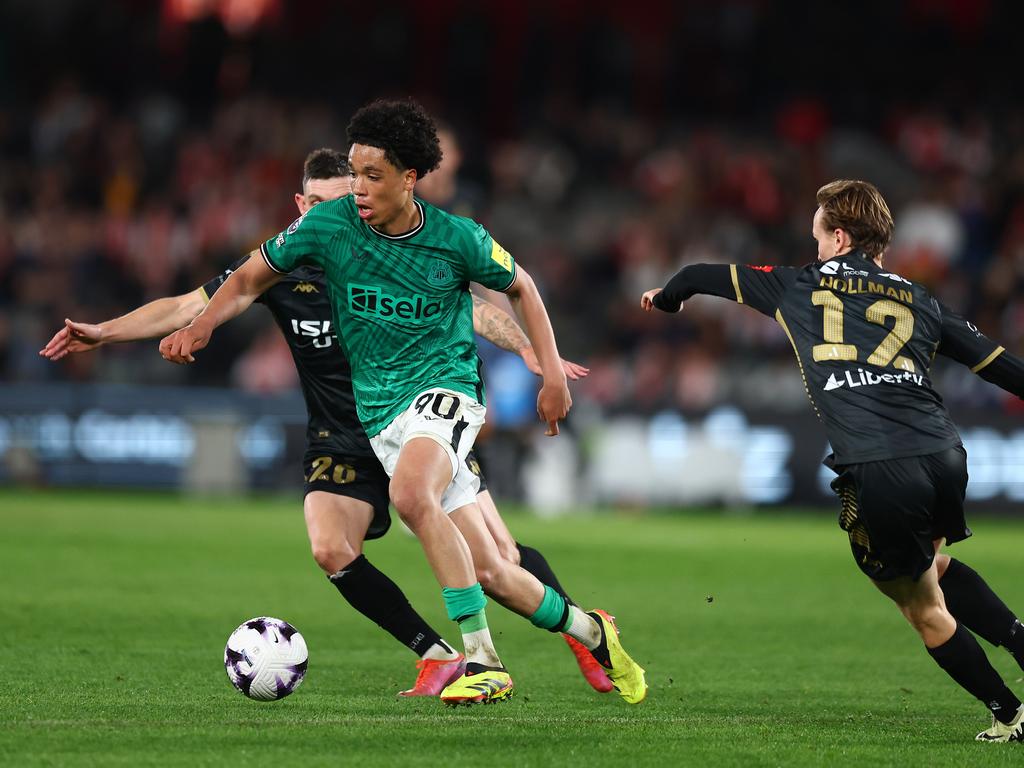
[[[887,266],[1024,352],[1022,28],[1024,4],[988,0],[7,0],[0,477],[187,484],[200,402],[243,435],[243,484],[297,488],[301,401],[262,310],[186,368],[155,342],[37,352],[65,316],[204,283],[294,218],[304,156],[345,148],[358,105],[413,95],[444,127],[423,194],[529,269],[592,369],[566,439],[543,441],[534,382],[481,345],[496,489],[550,509],[825,500],[774,324],[713,300],[649,316],[640,293],[693,261],[812,260],[814,191],[864,178],[896,217]],[[976,497],[1013,509],[1020,402],[933,373]]]

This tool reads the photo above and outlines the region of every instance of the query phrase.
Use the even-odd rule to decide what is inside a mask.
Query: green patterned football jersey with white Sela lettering
[[[486,229],[416,205],[419,225],[392,237],[362,221],[349,195],[314,206],[260,249],[274,271],[303,264],[324,270],[371,437],[426,389],[484,402],[469,283],[504,291],[515,280],[515,262]]]

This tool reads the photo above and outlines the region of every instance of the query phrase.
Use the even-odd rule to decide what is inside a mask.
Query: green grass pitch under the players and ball
[[[560,638],[490,603],[516,681],[503,705],[396,700],[413,655],[352,611],[307,552],[293,499],[0,492],[0,765],[1021,765],[972,739],[987,713],[923,652],[849,555],[830,511],[509,514],[577,601],[606,607],[648,671],[628,707],[593,692]],[[1012,607],[1021,522],[973,519],[952,548]],[[414,540],[369,557],[457,640]],[[1016,603],[1016,604],[1014,604]],[[227,682],[242,621],[295,624],[302,687]],[[1021,671],[989,648],[1018,693]]]

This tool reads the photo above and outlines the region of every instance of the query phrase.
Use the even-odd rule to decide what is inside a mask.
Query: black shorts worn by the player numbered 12
[[[874,581],[916,580],[935,559],[934,540],[953,544],[971,536],[964,519],[967,452],[962,445],[835,469],[840,527],[850,537],[857,565]]]

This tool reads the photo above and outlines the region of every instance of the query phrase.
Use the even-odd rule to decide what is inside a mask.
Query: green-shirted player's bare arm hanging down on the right
[[[512,285],[506,291],[516,316],[526,329],[526,336],[537,353],[538,365],[544,383],[537,396],[537,413],[548,423],[545,434],[558,434],[558,421],[564,419],[572,407],[572,397],[565,382],[565,372],[562,370],[561,357],[558,356],[558,345],[555,343],[555,333],[551,329],[548,310],[544,307],[541,294],[537,290],[534,279],[522,266],[518,266]]]

